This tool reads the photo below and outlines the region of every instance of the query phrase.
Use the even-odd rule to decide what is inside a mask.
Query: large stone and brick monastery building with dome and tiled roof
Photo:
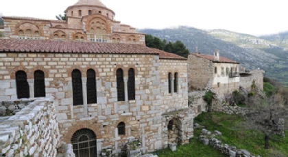
[[[141,152],[188,143],[187,59],[146,47],[145,35],[99,0],[65,12],[66,21],[3,17],[0,101],[53,96],[76,156],[120,154],[133,139]]]

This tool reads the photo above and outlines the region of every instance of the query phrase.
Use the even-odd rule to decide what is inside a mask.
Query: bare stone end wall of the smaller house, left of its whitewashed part
[[[188,56],[188,83],[189,91],[204,90],[213,79],[214,66],[212,61],[196,57]]]

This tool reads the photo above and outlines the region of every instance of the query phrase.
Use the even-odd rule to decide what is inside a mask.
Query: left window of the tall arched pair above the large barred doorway
[[[73,105],[83,104],[81,72],[77,69],[72,72]]]

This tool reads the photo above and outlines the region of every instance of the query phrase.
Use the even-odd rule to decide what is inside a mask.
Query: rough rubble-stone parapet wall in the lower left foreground
[[[0,119],[0,151],[3,156],[57,156],[60,132],[53,98],[2,104],[27,104],[15,115]]]

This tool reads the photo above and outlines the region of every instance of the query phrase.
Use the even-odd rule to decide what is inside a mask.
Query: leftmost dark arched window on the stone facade
[[[29,98],[29,84],[26,72],[19,70],[15,74],[17,98]]]

